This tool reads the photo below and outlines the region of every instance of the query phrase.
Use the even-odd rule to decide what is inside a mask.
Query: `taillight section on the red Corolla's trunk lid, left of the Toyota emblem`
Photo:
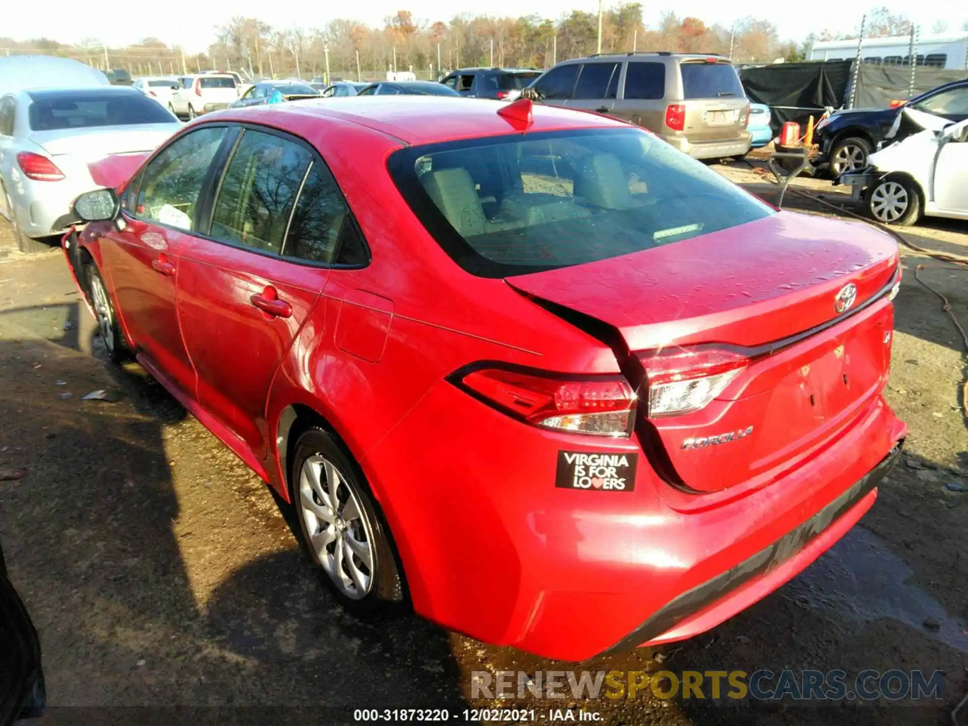
[[[741,352],[715,346],[666,348],[640,355],[649,383],[649,417],[704,408],[749,363]]]

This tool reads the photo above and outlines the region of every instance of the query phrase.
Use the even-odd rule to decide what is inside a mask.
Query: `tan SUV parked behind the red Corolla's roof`
[[[695,159],[749,151],[749,100],[718,55],[598,53],[562,61],[523,95],[630,121]]]

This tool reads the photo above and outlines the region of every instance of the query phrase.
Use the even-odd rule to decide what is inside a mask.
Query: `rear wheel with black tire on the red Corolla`
[[[355,497],[355,501],[358,502],[362,517],[352,522],[349,519],[344,521],[346,529],[338,529],[336,523],[328,525],[322,518],[315,518],[312,511],[309,511],[307,515],[307,510],[301,499],[301,492],[304,486],[308,486],[310,493],[317,490],[313,488],[312,482],[308,478],[304,484],[303,470],[307,463],[310,463],[310,468],[315,467],[319,459],[332,464],[340,476],[340,483],[337,484],[338,516],[334,519],[344,521],[342,517],[349,509],[350,492]],[[314,460],[314,462],[311,462],[311,460]],[[318,567],[321,579],[336,595],[340,603],[351,610],[368,612],[386,606],[388,601],[399,602],[403,600],[404,583],[401,576],[403,570],[396,558],[396,550],[393,546],[390,530],[378,511],[363,472],[348,455],[343,445],[329,432],[313,426],[306,429],[296,440],[290,461],[291,468],[288,471],[289,498],[295,509],[295,516],[299,520],[299,544],[309,560]],[[322,474],[322,476],[325,476],[325,474]],[[314,496],[314,504],[317,508],[328,512],[330,511],[326,507],[326,501],[329,499],[328,486],[325,481],[321,481],[321,477],[320,484],[325,490],[323,494],[326,499],[321,496]],[[342,507],[340,502],[344,502]],[[349,517],[349,515],[347,516]],[[365,523],[363,518],[365,518]],[[308,520],[312,520],[312,522]],[[311,531],[311,526],[316,531]],[[329,536],[336,538],[329,540]],[[320,543],[325,542],[321,550],[326,553],[328,565],[323,563],[322,558],[316,552],[316,547],[313,544],[314,537],[317,537]],[[363,558],[351,560],[357,573],[369,570],[370,579],[366,590],[360,590],[356,587],[356,582],[351,577],[350,565],[342,559],[338,560],[342,579],[351,581],[355,595],[348,594],[345,591],[345,585],[338,585],[335,579],[336,575],[330,574],[329,571],[329,568],[335,568],[337,562],[336,550],[348,539],[354,539],[357,546],[361,540],[364,544],[368,544],[370,546],[368,552],[371,553],[370,559],[373,560],[373,567],[367,567],[366,560]],[[351,550],[350,547],[345,549],[344,552],[348,553]],[[330,557],[333,559],[330,560]]]

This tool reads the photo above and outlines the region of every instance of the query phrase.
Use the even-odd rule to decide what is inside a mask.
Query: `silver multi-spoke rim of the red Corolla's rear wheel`
[[[348,598],[373,590],[373,529],[353,486],[328,459],[314,455],[299,472],[299,513],[318,563]]]

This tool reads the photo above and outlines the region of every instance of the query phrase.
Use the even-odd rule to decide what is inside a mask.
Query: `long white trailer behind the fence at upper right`
[[[854,60],[857,57],[857,43],[857,39],[818,41],[810,48],[808,60]],[[875,65],[910,66],[911,38],[864,38],[861,60]],[[919,66],[968,69],[968,33],[920,36],[915,44],[915,61]]]

